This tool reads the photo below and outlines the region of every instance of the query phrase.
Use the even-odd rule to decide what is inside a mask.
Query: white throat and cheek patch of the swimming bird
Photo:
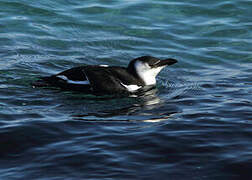
[[[156,76],[165,66],[160,66],[157,68],[151,68],[148,63],[143,63],[141,61],[135,62],[135,69],[138,76],[144,81],[145,85],[155,85]]]

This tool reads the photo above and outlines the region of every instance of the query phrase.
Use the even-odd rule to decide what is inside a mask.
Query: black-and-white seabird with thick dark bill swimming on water
[[[86,65],[74,67],[55,75],[40,77],[34,87],[59,87],[95,95],[132,94],[146,86],[156,85],[156,76],[176,59],[160,60],[142,56],[130,61],[128,67]]]

